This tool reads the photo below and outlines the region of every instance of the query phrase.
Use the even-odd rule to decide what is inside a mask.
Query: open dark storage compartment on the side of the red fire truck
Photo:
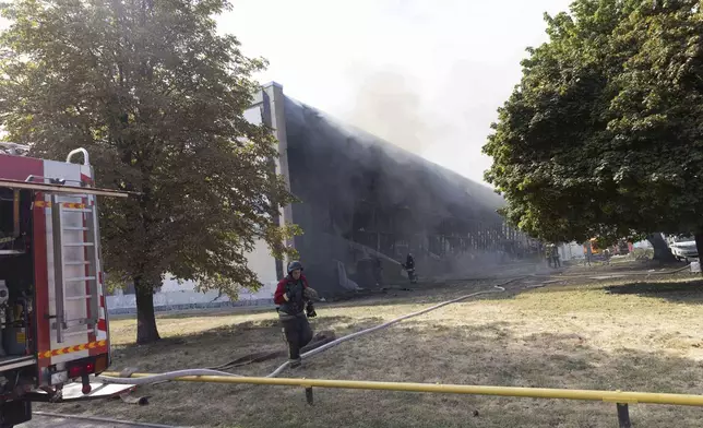
[[[33,355],[33,191],[0,187],[0,370]]]

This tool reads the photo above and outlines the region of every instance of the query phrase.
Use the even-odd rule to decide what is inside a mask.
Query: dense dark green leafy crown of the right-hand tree
[[[695,235],[703,253],[703,14],[694,0],[577,0],[492,124],[486,179],[533,236]]]

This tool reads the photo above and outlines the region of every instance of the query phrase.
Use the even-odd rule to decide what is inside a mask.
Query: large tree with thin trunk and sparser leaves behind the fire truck
[[[103,201],[112,278],[136,288],[138,343],[158,340],[153,294],[164,275],[236,297],[260,282],[246,254],[277,257],[295,231],[269,129],[243,111],[264,67],[213,19],[226,0],[15,0],[0,44],[0,120],[35,154],[91,153],[98,185],[139,192]]]

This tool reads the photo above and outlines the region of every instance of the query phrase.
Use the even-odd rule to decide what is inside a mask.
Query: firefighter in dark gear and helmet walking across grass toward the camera
[[[273,300],[278,305],[278,319],[288,342],[290,367],[300,367],[300,349],[312,340],[309,318],[317,317],[312,298],[317,295],[302,274],[302,264],[288,264],[288,275],[281,280]]]

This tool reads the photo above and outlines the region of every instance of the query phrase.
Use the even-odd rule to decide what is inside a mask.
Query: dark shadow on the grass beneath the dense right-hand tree
[[[703,280],[676,283],[638,282],[604,287],[607,293],[655,297],[677,304],[703,304]]]

